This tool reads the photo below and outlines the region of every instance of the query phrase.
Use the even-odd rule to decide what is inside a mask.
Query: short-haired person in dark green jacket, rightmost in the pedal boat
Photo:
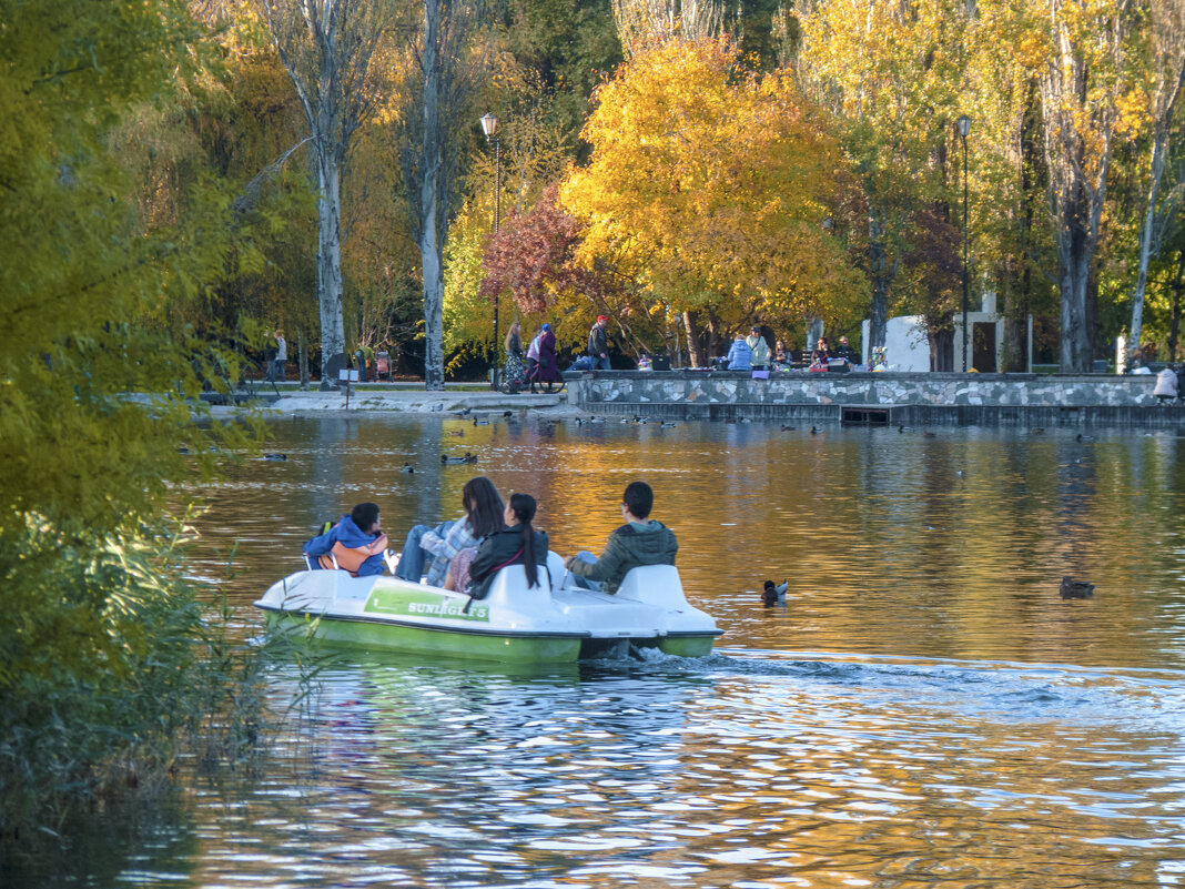
[[[651,486],[632,481],[621,499],[626,524],[609,535],[601,558],[582,551],[564,562],[564,567],[576,575],[576,583],[585,589],[603,588],[606,593],[616,593],[630,568],[674,564],[679,542],[670,527],[649,518],[654,506]]]

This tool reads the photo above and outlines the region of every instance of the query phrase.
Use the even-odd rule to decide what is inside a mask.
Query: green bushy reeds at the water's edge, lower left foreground
[[[182,576],[185,523],[0,532],[0,838],[141,793],[174,757],[250,763],[270,735],[274,645],[236,642]],[[282,714],[277,718],[282,718]],[[134,788],[134,789],[133,789]]]

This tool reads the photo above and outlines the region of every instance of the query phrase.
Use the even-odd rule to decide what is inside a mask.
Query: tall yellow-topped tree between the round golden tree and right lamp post
[[[800,82],[837,115],[864,193],[870,346],[883,346],[898,273],[916,237],[939,231],[918,215],[948,196],[967,15],[955,0],[809,0],[796,12]]]

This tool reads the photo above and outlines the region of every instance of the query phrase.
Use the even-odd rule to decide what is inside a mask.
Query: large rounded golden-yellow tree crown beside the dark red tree
[[[588,167],[561,191],[588,228],[581,258],[725,325],[839,319],[864,290],[825,228],[846,179],[838,143],[788,76],[737,65],[725,39],[638,52],[596,95]],[[655,307],[658,308],[658,307]]]

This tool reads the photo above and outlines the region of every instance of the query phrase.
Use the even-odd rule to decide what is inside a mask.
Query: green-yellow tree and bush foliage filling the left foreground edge
[[[196,422],[194,364],[233,372],[233,354],[145,319],[200,301],[250,231],[200,180],[187,212],[147,218],[123,167],[116,129],[203,64],[180,2],[0,0],[0,830],[15,836],[65,820],[37,813],[47,798],[94,802],[219,721],[193,709],[225,674],[204,670],[218,631],[166,516],[213,448],[245,443],[237,422]]]

